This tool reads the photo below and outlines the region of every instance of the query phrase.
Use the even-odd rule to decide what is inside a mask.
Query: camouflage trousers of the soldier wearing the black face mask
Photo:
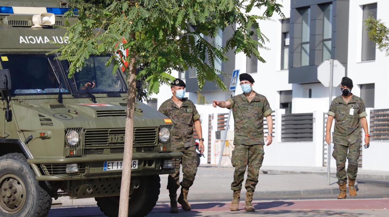
[[[356,142],[351,145],[334,145],[332,157],[336,160],[336,177],[338,177],[338,184],[347,183],[347,176],[354,180],[358,172],[358,159],[361,143]],[[348,151],[348,153],[347,153]],[[346,172],[346,157],[349,160]]]

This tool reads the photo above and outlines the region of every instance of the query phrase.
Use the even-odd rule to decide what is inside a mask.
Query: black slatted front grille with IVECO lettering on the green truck
[[[124,128],[118,129],[86,129],[85,146],[123,146]],[[134,129],[134,145],[156,145],[157,128],[143,127]]]

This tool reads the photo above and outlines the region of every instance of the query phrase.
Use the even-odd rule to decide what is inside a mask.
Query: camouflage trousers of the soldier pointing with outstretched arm
[[[263,145],[235,145],[232,151],[231,163],[235,167],[234,181],[231,183],[231,190],[242,189],[244,174],[247,169],[245,188],[248,192],[254,192],[258,183],[259,168],[262,166]]]

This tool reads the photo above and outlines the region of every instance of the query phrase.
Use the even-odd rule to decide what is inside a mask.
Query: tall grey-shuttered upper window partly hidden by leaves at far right
[[[363,5],[363,21],[369,17],[377,19],[377,3]],[[369,40],[368,31],[362,21],[362,61],[375,60],[375,43]]]

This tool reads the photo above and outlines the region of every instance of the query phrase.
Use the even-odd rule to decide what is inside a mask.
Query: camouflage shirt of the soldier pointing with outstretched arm
[[[227,101],[231,102],[234,116],[234,144],[265,145],[263,141],[263,117],[273,112],[266,97],[256,93],[249,102],[242,93]]]

